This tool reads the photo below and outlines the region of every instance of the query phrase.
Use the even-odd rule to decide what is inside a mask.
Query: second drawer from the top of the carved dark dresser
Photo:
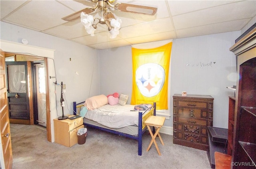
[[[178,116],[192,117],[192,118],[208,118],[208,110],[194,109],[194,108],[177,108]]]

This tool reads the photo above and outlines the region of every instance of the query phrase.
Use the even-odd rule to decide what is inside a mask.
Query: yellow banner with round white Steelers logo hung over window
[[[168,75],[172,42],[154,49],[132,48],[131,104],[168,109]]]

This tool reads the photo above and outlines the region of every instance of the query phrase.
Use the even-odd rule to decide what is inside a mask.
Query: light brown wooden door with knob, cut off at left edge
[[[8,101],[7,101],[7,88],[6,88],[6,71],[5,71],[5,60],[4,52],[1,50],[0,55],[0,132],[2,151],[4,157],[4,166],[1,168],[11,169],[12,168],[12,143],[10,134],[10,122],[8,112]],[[2,165],[2,163],[1,163]]]

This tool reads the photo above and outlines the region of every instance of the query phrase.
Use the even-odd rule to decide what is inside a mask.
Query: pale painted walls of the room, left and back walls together
[[[226,89],[226,86],[236,85],[233,81],[236,60],[229,48],[234,45],[235,39],[239,36],[240,31],[234,31],[173,40],[170,96],[181,93],[183,90],[188,94],[212,95],[214,97],[213,125],[216,127],[228,127],[228,96],[234,93]],[[68,101],[66,105],[74,100],[84,101],[89,97],[89,93],[90,96],[94,96],[123,92],[131,96],[131,46],[98,51],[4,22],[1,22],[1,39],[18,43],[21,43],[21,39],[28,39],[30,45],[56,50],[54,53],[56,77],[58,83],[63,81],[66,84],[65,100]],[[212,63],[212,67],[204,68],[186,65],[186,63],[196,65],[200,62],[216,63]],[[52,74],[50,75],[53,76]],[[93,78],[92,84],[91,78]],[[50,82],[53,81],[53,79],[50,80]],[[90,86],[92,86],[91,89]],[[54,89],[51,88],[51,90]],[[57,92],[60,92],[60,89],[57,88]],[[59,98],[57,96],[57,102]],[[54,105],[52,102],[51,104]],[[172,98],[170,105],[171,118],[166,120],[165,126],[172,127]],[[67,114],[67,106],[64,110]],[[60,106],[58,113],[61,114]]]

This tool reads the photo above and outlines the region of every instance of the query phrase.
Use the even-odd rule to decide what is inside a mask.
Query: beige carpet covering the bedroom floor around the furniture
[[[46,129],[36,125],[11,124],[13,169],[210,169],[206,151],[172,143],[172,136],[157,138],[162,156],[143,135],[142,156],[138,142],[88,128],[86,143],[65,147],[46,140]]]

